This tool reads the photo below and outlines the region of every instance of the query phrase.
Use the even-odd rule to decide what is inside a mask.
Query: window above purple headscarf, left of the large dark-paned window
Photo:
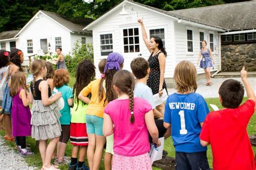
[[[107,56],[113,52],[112,33],[100,35],[100,52],[102,56]]]

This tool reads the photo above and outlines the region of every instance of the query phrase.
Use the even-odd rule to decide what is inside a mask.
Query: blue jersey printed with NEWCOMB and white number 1
[[[173,145],[177,152],[203,152],[200,145],[200,123],[209,113],[207,104],[198,93],[171,94],[165,103],[164,122],[172,125]]]

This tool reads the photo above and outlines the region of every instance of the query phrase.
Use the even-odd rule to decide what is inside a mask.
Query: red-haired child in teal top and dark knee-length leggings
[[[53,76],[53,93],[61,92],[64,101],[63,108],[60,110],[61,117],[59,118],[60,125],[62,126],[62,135],[59,137],[57,144],[57,159],[55,165],[69,164],[68,159],[64,159],[66,144],[70,137],[70,106],[73,105],[73,94],[69,83],[69,71],[66,69],[58,69]],[[60,106],[59,106],[60,107]]]

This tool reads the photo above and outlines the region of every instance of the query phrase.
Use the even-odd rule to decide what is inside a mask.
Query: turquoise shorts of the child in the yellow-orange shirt
[[[87,134],[96,134],[103,136],[103,118],[97,117],[96,115],[86,114],[86,129]]]

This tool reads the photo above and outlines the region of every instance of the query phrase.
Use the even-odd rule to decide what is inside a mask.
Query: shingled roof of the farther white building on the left
[[[83,28],[93,21],[91,18],[66,18],[63,15],[59,15],[58,13],[43,10],[40,11],[54,19],[59,24],[62,24],[72,32],[88,32],[86,30],[83,31]]]

